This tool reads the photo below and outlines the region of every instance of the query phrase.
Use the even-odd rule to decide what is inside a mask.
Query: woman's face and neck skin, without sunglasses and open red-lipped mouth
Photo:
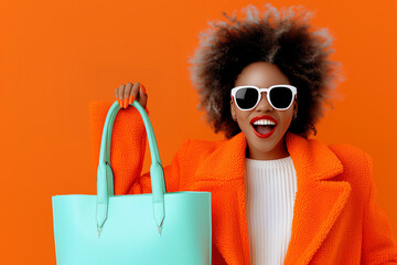
[[[255,85],[259,88],[281,84],[291,85],[277,65],[266,62],[247,65],[235,82],[235,86]],[[257,160],[271,160],[289,156],[283,136],[291,124],[292,115],[298,113],[297,98],[288,109],[277,110],[268,103],[266,93],[262,92],[259,104],[251,110],[240,110],[234,99],[230,100],[232,116],[237,118],[238,126],[247,138],[248,158]],[[264,115],[271,116],[277,121],[275,131],[267,138],[257,136],[255,127],[251,125],[255,117]]]

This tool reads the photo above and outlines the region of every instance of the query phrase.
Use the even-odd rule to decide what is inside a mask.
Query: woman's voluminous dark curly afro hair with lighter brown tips
[[[328,56],[334,50],[333,38],[328,29],[310,31],[307,23],[312,13],[304,10],[294,12],[294,6],[282,14],[270,3],[261,18],[255,6],[248,4],[246,19],[238,21],[223,12],[232,23],[208,22],[212,28],[200,33],[200,45],[189,59],[191,81],[198,95],[196,109],[206,110],[206,119],[215,134],[223,131],[227,139],[240,132],[232,118],[230,91],[237,76],[245,66],[254,62],[276,64],[298,88],[298,117],[292,120],[289,131],[309,137],[310,130],[316,135],[314,124],[324,116],[322,103],[333,105],[331,92],[335,87],[335,77],[340,75],[339,62]],[[253,13],[254,11],[254,13]],[[334,93],[335,98],[339,96]]]

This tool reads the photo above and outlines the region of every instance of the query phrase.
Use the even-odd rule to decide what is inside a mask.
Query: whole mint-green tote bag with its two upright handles
[[[52,197],[56,264],[211,265],[211,192],[167,192],[150,119],[137,100],[132,106],[149,139],[152,193],[114,193],[110,140],[120,109],[115,102],[101,136],[97,194]]]

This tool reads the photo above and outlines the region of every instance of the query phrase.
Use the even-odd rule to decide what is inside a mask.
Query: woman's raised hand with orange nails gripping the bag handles
[[[142,84],[136,82],[127,83],[127,85],[120,85],[119,88],[115,89],[115,97],[121,108],[127,108],[129,104],[136,99],[146,109],[148,103],[148,94]]]

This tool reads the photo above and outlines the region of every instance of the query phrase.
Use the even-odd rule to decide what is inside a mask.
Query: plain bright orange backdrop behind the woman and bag
[[[186,138],[222,139],[195,109],[187,59],[207,20],[264,1],[2,1],[0,263],[55,264],[51,197],[95,194],[88,106],[141,82],[163,165]],[[344,98],[316,126],[326,144],[374,158],[378,203],[397,239],[395,0],[303,4],[335,38]],[[240,13],[237,12],[240,17]],[[143,172],[149,170],[147,147]]]

